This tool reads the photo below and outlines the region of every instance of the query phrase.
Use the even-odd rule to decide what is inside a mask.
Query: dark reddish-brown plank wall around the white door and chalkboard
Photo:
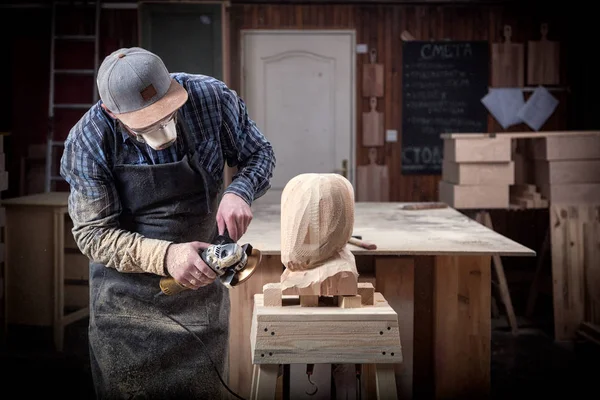
[[[357,43],[375,47],[378,63],[385,68],[385,97],[378,109],[384,113],[386,129],[398,131],[398,142],[386,143],[379,152],[390,175],[392,201],[437,200],[439,175],[403,176],[401,173],[402,128],[402,39],[403,31],[415,39],[501,41],[505,24],[513,27],[513,41],[537,40],[540,16],[532,17],[524,7],[507,6],[415,6],[415,5],[273,5],[234,4],[231,9],[231,86],[240,89],[240,30],[242,29],[356,29]],[[547,20],[546,20],[547,21]],[[550,23],[552,39],[563,35],[564,24]],[[367,149],[362,142],[362,113],[369,110],[368,98],[361,95],[362,64],[367,55],[357,56],[357,163],[366,164]],[[563,68],[563,70],[565,70]],[[566,74],[563,74],[566,75]],[[565,77],[566,79],[566,77]],[[557,94],[560,107],[545,130],[566,128],[566,93]],[[489,119],[489,129],[501,130]],[[528,130],[526,126],[511,130]]]

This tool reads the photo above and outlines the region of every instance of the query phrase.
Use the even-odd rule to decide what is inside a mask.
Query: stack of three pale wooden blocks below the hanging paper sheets
[[[508,208],[515,166],[511,139],[494,135],[443,135],[439,201],[457,209]]]

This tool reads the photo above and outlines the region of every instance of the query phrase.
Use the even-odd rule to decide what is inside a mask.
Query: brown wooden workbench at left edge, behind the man
[[[2,200],[6,209],[5,329],[51,327],[57,350],[67,325],[89,315],[88,260],[75,245],[67,192]]]

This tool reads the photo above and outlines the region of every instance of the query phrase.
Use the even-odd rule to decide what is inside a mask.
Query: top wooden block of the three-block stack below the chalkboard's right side
[[[444,139],[444,161],[510,162],[511,154],[511,142],[507,137]]]

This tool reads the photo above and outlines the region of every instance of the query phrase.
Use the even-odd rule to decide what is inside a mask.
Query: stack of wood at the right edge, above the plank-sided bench
[[[534,183],[550,203],[600,201],[600,134],[536,138],[531,153]]]

